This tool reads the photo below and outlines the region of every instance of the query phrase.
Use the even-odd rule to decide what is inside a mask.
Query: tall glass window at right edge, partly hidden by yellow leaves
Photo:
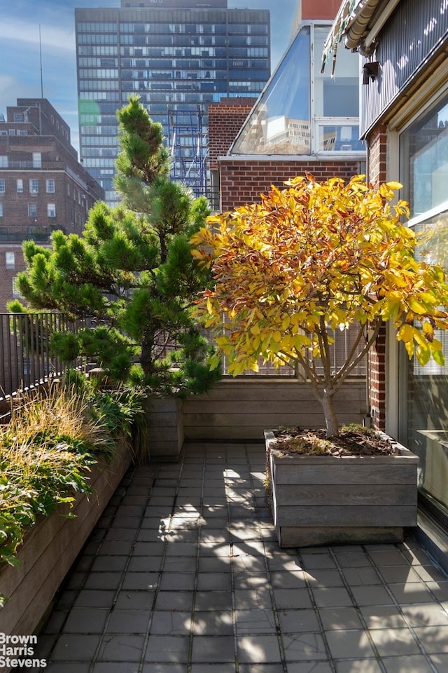
[[[416,259],[448,269],[448,96],[424,109],[400,135],[400,196],[409,201],[408,225],[419,236]],[[421,498],[437,512],[448,508],[447,414],[448,333],[436,330],[447,364],[421,367],[402,358],[402,437],[418,454]]]

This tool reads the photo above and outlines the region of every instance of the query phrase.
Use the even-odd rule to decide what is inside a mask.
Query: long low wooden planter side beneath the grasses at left
[[[18,550],[19,567],[2,564],[0,592],[9,600],[0,610],[0,633],[27,635],[38,630],[130,463],[130,447],[124,442],[109,463],[100,457],[90,473],[92,494],[77,494],[71,510],[61,506],[34,524]],[[67,511],[76,518],[62,516]]]

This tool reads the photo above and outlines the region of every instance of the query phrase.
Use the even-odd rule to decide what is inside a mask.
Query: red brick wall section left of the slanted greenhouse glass
[[[224,98],[209,105],[210,168],[218,168],[218,156],[225,156],[251,111],[255,98]]]

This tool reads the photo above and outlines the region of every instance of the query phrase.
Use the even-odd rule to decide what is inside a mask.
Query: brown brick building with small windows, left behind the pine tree
[[[24,268],[22,242],[83,231],[104,190],[78,162],[70,129],[46,99],[20,98],[0,121],[0,312]]]

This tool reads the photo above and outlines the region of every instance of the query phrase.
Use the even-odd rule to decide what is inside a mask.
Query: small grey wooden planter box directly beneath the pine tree
[[[179,460],[183,445],[182,407],[179,397],[151,397],[148,400],[151,462]]]

